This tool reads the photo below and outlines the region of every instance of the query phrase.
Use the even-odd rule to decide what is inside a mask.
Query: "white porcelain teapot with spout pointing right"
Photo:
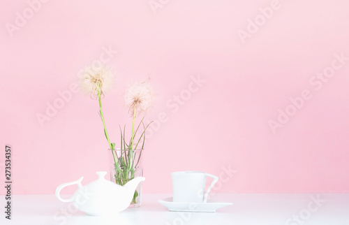
[[[81,184],[84,177],[59,185],[56,189],[57,198],[65,203],[73,202],[77,209],[85,212],[87,215],[111,215],[128,208],[138,184],[145,180],[144,177],[135,177],[124,186],[121,186],[105,180],[104,176],[107,172],[101,171],[96,173],[98,179],[85,186]],[[71,198],[61,198],[59,195],[61,189],[73,184],[77,184],[79,189],[75,191]]]

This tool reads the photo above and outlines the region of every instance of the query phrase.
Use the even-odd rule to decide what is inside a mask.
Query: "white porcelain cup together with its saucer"
[[[232,203],[221,203],[207,201],[209,191],[218,181],[218,177],[202,171],[181,171],[171,173],[172,177],[172,198],[165,198],[158,201],[170,211],[179,212],[216,212]],[[207,177],[214,180],[205,192]]]

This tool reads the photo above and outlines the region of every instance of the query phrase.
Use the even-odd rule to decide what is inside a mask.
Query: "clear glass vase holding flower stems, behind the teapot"
[[[135,177],[143,176],[142,154],[144,150],[108,150],[110,159],[110,180],[124,186]],[[140,207],[142,182],[138,184],[128,208]]]

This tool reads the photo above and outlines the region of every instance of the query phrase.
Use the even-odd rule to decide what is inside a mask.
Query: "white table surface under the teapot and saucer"
[[[211,201],[233,203],[216,212],[169,212],[158,200],[170,196],[143,194],[140,208],[127,209],[115,217],[82,212],[68,212],[66,217],[61,210],[66,210],[68,203],[61,203],[54,195],[17,195],[13,196],[12,219],[5,219],[1,207],[0,224],[349,225],[349,194],[215,194]],[[1,205],[4,197],[0,196]],[[314,198],[322,200],[320,206]],[[299,217],[298,222],[292,217]]]

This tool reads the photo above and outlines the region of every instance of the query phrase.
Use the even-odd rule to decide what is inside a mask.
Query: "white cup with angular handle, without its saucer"
[[[206,203],[209,191],[218,181],[218,177],[202,171],[182,171],[171,173],[173,202]],[[214,178],[205,193],[207,177]]]

